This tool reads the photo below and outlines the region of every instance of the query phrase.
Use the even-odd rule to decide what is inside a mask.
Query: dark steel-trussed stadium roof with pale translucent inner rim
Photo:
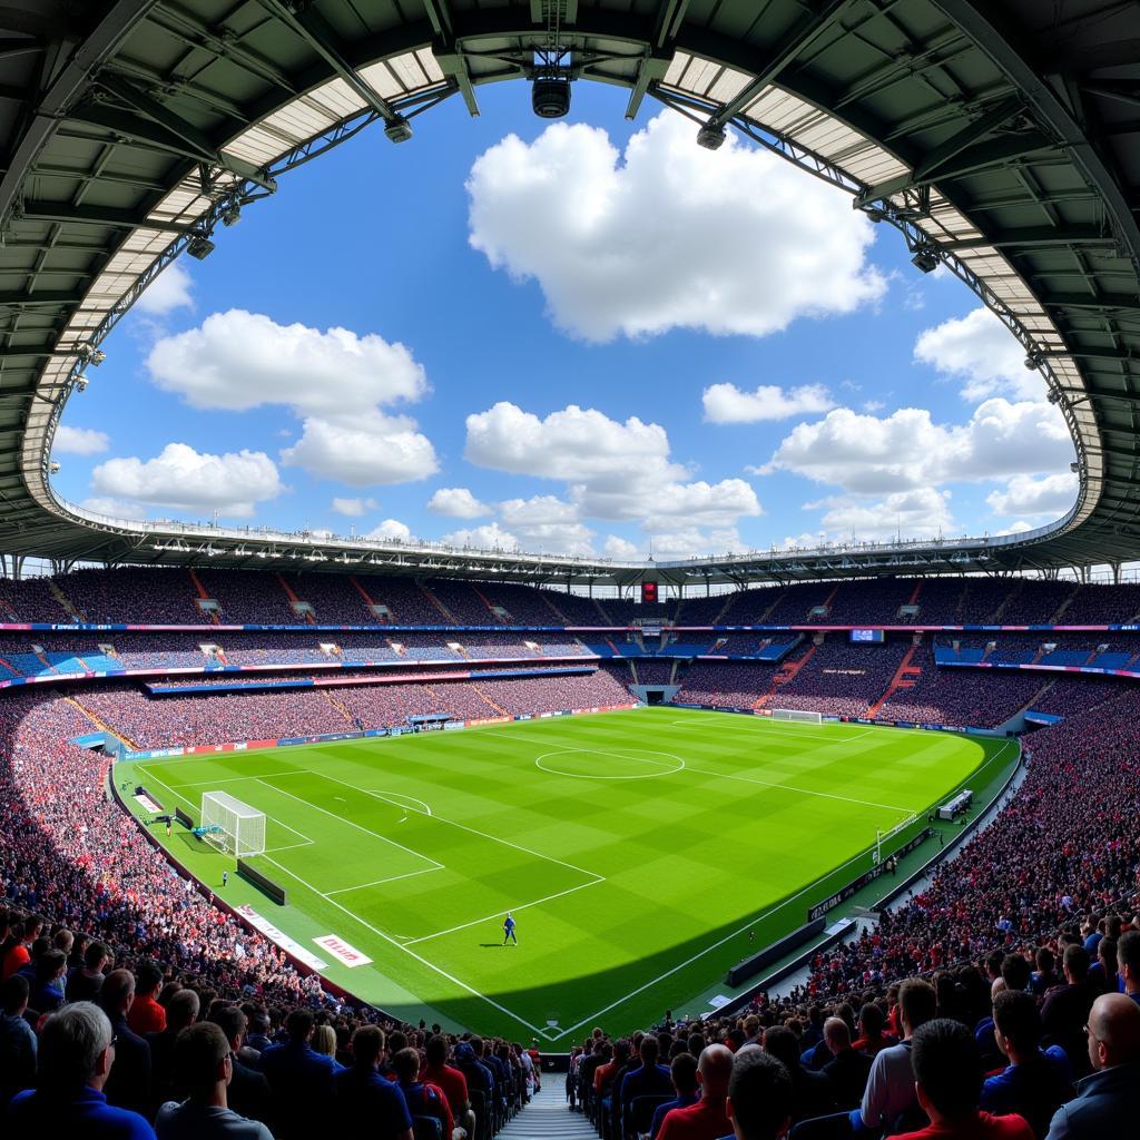
[[[385,146],[442,99],[477,114],[480,84],[532,80],[555,39],[573,80],[629,89],[628,116],[661,100],[706,145],[731,124],[972,288],[1068,422],[1073,510],[1000,539],[634,564],[101,520],[54,495],[64,405],[171,258],[223,242],[227,212],[372,124]],[[0,551],[577,581],[1140,557],[1135,3],[30,0],[0,7]]]

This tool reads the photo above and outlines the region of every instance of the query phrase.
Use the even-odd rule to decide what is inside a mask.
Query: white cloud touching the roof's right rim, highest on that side
[[[914,359],[964,383],[962,396],[980,400],[995,392],[1041,399],[1040,373],[1025,367],[1025,349],[986,308],[927,328],[914,342]]]

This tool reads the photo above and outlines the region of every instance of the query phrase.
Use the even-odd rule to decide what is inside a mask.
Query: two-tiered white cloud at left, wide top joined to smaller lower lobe
[[[230,309],[161,337],[147,358],[155,383],[192,407],[246,412],[285,405],[303,421],[282,462],[353,487],[424,479],[438,470],[416,422],[384,410],[427,392],[412,352],[375,334],[278,325]]]

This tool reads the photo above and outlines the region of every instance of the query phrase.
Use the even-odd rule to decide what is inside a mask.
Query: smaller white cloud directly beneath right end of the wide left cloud
[[[350,487],[405,483],[439,470],[435,449],[407,416],[372,412],[355,423],[308,416],[301,438],[282,451],[286,466]]]

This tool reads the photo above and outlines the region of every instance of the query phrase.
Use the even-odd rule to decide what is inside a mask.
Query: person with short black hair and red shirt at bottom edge
[[[960,1021],[942,1018],[920,1026],[911,1061],[918,1100],[930,1124],[897,1140],[1033,1140],[1020,1116],[991,1116],[978,1108],[982,1057]]]

